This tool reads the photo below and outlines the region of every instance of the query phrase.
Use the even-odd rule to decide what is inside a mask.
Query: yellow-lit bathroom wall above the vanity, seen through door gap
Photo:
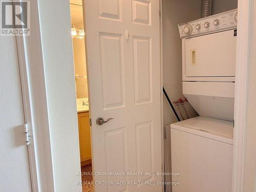
[[[83,28],[83,12],[82,6],[70,5],[71,22],[76,29]],[[73,53],[74,53],[74,67],[75,75],[87,77],[86,72],[86,50],[84,45],[84,38],[73,37]],[[87,78],[75,78],[76,80],[76,97],[88,97]]]

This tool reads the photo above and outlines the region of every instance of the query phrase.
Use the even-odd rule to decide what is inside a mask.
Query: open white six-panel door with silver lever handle
[[[93,169],[125,173],[96,175],[95,189],[161,191],[151,185],[162,179],[154,175],[162,166],[159,1],[85,0],[84,8]],[[98,117],[114,120],[97,125]]]

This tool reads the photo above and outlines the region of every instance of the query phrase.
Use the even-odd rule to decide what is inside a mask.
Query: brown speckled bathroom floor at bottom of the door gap
[[[82,172],[82,191],[93,192],[92,164],[81,167]]]

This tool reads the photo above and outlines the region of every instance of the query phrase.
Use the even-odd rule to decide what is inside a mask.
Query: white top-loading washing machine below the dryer
[[[233,124],[195,117],[170,125],[173,192],[231,192]]]

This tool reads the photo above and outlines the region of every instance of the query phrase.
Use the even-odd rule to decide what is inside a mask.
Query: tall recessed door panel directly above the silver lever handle
[[[123,37],[100,33],[101,75],[104,110],[124,106]]]

